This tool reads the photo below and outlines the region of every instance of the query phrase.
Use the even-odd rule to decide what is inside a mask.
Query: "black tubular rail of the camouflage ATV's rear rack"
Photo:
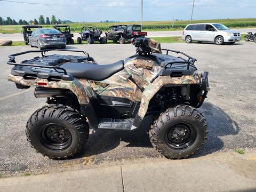
[[[78,51],[78,50],[61,50],[61,49],[48,49],[48,50],[33,50],[33,51],[24,51],[24,52],[20,52],[20,53],[15,53],[15,54],[11,54],[8,57],[10,58],[9,61],[7,62],[8,65],[14,65],[14,66],[29,66],[29,67],[36,67],[36,68],[47,68],[47,69],[54,69],[57,73],[63,73],[65,75],[67,75],[67,71],[66,69],[62,68],[62,67],[54,67],[54,66],[41,66],[41,65],[33,65],[33,64],[26,64],[26,63],[17,63],[15,61],[15,56],[18,55],[22,55],[22,54],[27,54],[27,53],[40,53],[42,54],[42,57],[44,57],[46,55],[46,52],[48,51],[69,51],[69,52],[81,52],[84,53],[85,55],[87,55],[87,57],[90,57],[89,53],[85,52],[85,51]],[[58,71],[58,70],[62,70],[62,71]]]

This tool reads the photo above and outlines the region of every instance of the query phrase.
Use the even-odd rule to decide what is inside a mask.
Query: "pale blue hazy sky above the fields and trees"
[[[140,21],[140,0],[0,0],[0,16],[38,19],[39,14],[71,21]],[[25,3],[36,4],[25,4]],[[38,3],[38,4],[37,4]],[[40,4],[43,3],[43,4]],[[46,5],[50,4],[50,5]],[[143,20],[190,19],[193,0],[144,0]],[[256,18],[256,0],[195,0],[193,19]]]

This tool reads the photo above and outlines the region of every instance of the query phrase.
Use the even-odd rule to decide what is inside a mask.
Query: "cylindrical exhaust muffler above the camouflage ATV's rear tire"
[[[67,91],[65,89],[47,87],[36,87],[34,92],[36,98],[65,97],[66,93]]]

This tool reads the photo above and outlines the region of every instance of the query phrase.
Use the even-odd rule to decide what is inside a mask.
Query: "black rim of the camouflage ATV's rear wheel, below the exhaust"
[[[60,124],[47,124],[42,127],[39,140],[48,149],[62,151],[67,149],[71,142],[71,133]]]

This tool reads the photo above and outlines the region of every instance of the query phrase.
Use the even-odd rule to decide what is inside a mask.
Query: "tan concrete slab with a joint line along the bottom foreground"
[[[86,170],[0,179],[1,192],[255,191],[256,149],[177,161],[123,162]]]

